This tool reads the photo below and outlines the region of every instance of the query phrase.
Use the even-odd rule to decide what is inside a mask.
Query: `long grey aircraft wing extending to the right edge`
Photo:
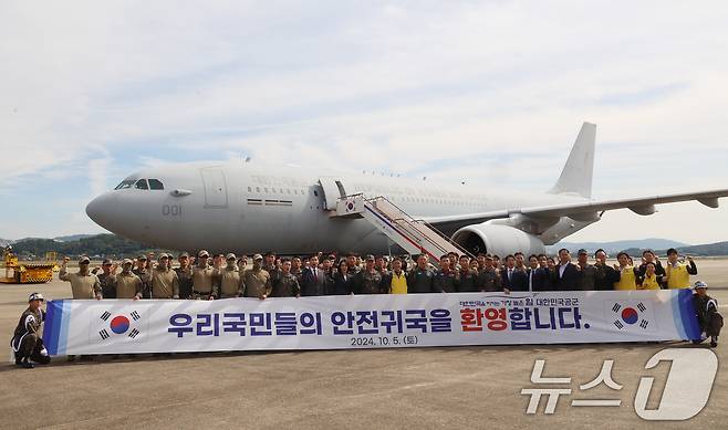
[[[481,223],[493,219],[510,218],[511,216],[516,214],[521,214],[532,219],[559,219],[561,217],[570,217],[574,219],[593,218],[596,220],[599,219],[597,213],[605,210],[627,208],[638,214],[652,214],[655,212],[655,204],[674,203],[678,201],[697,200],[707,207],[717,208],[718,198],[720,197],[728,197],[728,189],[626,199],[584,200],[573,203],[520,209],[503,209],[491,212],[467,213],[446,217],[426,217],[423,218],[423,220],[440,230],[457,230],[465,226]]]

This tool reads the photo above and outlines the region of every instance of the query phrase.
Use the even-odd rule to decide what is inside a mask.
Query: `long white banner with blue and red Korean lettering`
[[[51,301],[52,355],[691,339],[689,290]]]

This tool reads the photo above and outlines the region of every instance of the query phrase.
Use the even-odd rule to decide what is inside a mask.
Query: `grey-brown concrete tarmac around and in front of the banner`
[[[728,260],[697,261],[721,313],[728,314]],[[9,342],[33,291],[69,297],[70,284],[0,285],[0,339]],[[687,421],[645,421],[634,410],[643,376],[654,376],[648,408],[656,408],[669,364],[645,370],[665,348],[705,348],[686,343],[478,346],[284,353],[142,355],[44,367],[0,365],[0,428],[116,429],[155,427],[257,429],[401,428],[725,428],[728,377],[719,369],[707,406]],[[6,349],[8,352],[8,349]],[[553,415],[526,412],[537,388],[535,359],[544,377],[571,377]],[[605,359],[622,385],[580,391]],[[553,388],[551,386],[550,388]],[[655,395],[656,394],[656,395]],[[572,399],[620,399],[618,407],[572,407]]]

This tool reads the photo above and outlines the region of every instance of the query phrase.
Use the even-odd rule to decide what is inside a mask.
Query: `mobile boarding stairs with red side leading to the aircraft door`
[[[332,211],[336,218],[364,218],[410,254],[426,253],[434,263],[450,252],[468,254],[455,242],[423,220],[416,220],[385,197],[364,195],[342,197]]]

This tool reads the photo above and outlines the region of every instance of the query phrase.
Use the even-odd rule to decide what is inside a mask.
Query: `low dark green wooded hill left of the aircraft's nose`
[[[22,258],[39,258],[49,251],[58,252],[59,256],[89,255],[91,258],[136,256],[148,251],[171,251],[149,248],[115,234],[96,234],[65,242],[53,239],[23,239],[13,243],[12,248]]]

